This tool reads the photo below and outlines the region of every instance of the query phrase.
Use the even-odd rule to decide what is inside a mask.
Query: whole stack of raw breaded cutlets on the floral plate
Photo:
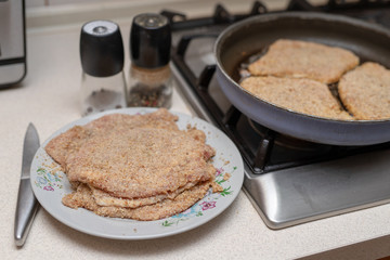
[[[96,214],[157,220],[202,199],[214,182],[214,150],[202,130],[179,130],[160,108],[144,115],[112,114],[52,139],[47,153],[75,188],[63,198]]]

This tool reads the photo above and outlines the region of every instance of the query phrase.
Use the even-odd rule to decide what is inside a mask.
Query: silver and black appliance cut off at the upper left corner
[[[0,1],[0,89],[26,75],[24,0]]]

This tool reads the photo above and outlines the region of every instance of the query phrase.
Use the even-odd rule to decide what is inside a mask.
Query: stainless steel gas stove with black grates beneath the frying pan
[[[349,15],[390,28],[390,1],[289,2],[288,11]],[[217,5],[211,17],[187,20],[162,11],[172,25],[172,69],[179,92],[200,118],[223,130],[245,161],[244,191],[271,229],[283,229],[390,202],[390,142],[369,146],[312,143],[248,118],[225,98],[214,77],[213,44],[229,25],[268,13],[256,1],[246,14]]]

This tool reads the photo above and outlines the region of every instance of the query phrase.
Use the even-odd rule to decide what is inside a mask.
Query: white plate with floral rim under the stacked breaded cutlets
[[[238,150],[222,131],[210,123],[174,112],[171,113],[179,116],[180,129],[186,129],[190,123],[203,130],[207,136],[207,144],[216,148],[217,154],[213,157],[213,165],[218,169],[216,180],[221,182],[220,184],[224,188],[222,193],[209,191],[202,200],[186,211],[157,221],[100,217],[89,210],[72,209],[62,204],[62,197],[72,193],[72,187],[64,172],[53,170],[55,162],[43,150],[48,142],[76,125],[86,125],[103,115],[113,113],[145,114],[154,110],[154,108],[125,108],[105,112],[81,118],[52,134],[37,151],[31,165],[31,185],[41,206],[55,219],[75,230],[115,239],[147,239],[182,233],[208,222],[226,209],[236,198],[243,185],[244,165]],[[231,174],[231,178],[223,181],[223,174],[226,172]]]

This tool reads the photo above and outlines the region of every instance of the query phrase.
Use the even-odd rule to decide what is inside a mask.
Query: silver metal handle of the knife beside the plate
[[[15,213],[16,246],[24,245],[37,210],[38,202],[34,196],[30,179],[21,179]]]

